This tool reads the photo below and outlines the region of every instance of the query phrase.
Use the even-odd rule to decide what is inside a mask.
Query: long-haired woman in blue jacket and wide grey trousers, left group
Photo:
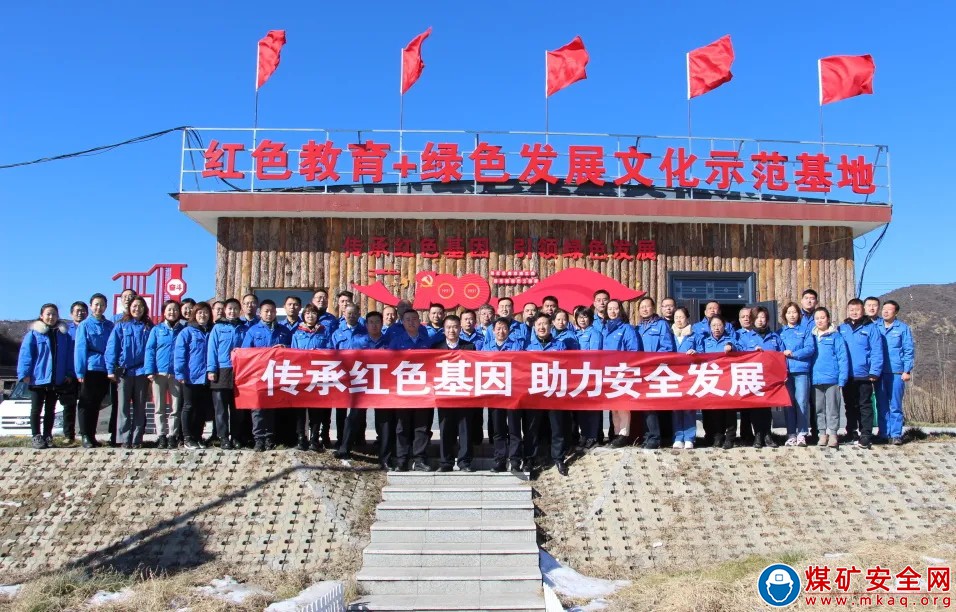
[[[129,304],[129,313],[113,328],[106,343],[106,375],[116,382],[116,439],[123,448],[142,448],[146,433],[146,340],[153,327],[146,300],[136,296]]]

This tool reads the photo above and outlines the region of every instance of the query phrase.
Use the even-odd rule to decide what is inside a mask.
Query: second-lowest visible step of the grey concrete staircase
[[[363,567],[355,575],[369,595],[492,595],[541,592],[541,571],[517,567]]]

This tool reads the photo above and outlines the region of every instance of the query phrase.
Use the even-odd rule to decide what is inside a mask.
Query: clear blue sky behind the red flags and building
[[[289,42],[262,90],[260,125],[396,128],[398,50],[433,26],[407,128],[542,129],[543,51],[580,34],[589,78],[552,99],[551,129],[680,134],[684,54],[729,33],[734,80],[695,100],[695,133],[814,140],[817,58],[871,53],[876,94],[826,107],[828,140],[887,144],[892,154],[894,219],[864,292],[956,280],[944,186],[956,169],[952,3],[147,4],[4,9],[0,164],[177,125],[248,127],[256,41],[273,28]],[[211,295],[215,239],[168,195],[179,153],[179,135],[169,135],[0,170],[0,318],[111,293],[114,273],[156,262],[189,264],[189,293]],[[874,238],[857,240],[858,257]]]

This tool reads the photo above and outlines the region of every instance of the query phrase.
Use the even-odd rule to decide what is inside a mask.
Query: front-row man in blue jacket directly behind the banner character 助
[[[532,322],[533,332],[531,338],[528,340],[527,345],[525,346],[526,351],[566,351],[568,347],[564,342],[558,340],[554,337],[552,333],[552,321],[551,317],[544,313],[540,313],[534,317]],[[536,465],[538,459],[538,451],[541,445],[541,428],[540,428],[540,410],[513,410],[512,412],[520,412],[521,422],[519,423],[515,420],[514,427],[512,427],[512,422],[509,420],[508,431],[511,437],[511,456],[512,456],[512,466],[514,458],[516,456],[521,456],[522,451],[524,454],[525,464],[523,469],[529,472],[535,472],[538,469]],[[564,461],[564,457],[567,453],[567,448],[565,446],[565,432],[567,431],[567,417],[568,412],[566,410],[548,410],[547,418],[549,424],[551,425],[551,461],[554,462],[555,468],[557,468],[558,473],[562,476],[568,475],[568,466]],[[512,467],[512,469],[514,469]]]

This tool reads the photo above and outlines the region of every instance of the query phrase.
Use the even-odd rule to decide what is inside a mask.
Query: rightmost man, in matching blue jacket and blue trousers
[[[883,334],[883,374],[876,386],[877,422],[883,438],[890,444],[903,443],[903,393],[912,378],[915,365],[913,332],[909,325],[897,319],[900,305],[894,300],[883,303],[882,323],[877,329]]]

